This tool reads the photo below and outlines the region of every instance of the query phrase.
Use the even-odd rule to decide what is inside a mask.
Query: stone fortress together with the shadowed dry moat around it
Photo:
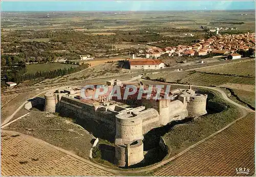
[[[134,85],[139,88],[139,83]],[[127,85],[112,80],[104,87],[114,86],[120,87],[123,98]],[[45,93],[45,99],[31,99],[25,108],[58,112],[60,116],[72,118],[100,139],[92,150],[95,160],[105,160],[120,168],[160,162],[171,150],[162,138],[164,134],[177,124],[188,123],[207,112],[220,111],[215,109],[216,105],[208,106],[206,93],[196,93],[191,87],[169,91],[170,99],[154,99],[155,90],[150,99],[142,96],[141,100],[135,99],[139,89],[127,99],[109,99],[108,95],[101,95],[89,100],[81,99],[81,89],[74,86],[49,91]],[[84,90],[86,94],[94,94],[95,91],[96,86],[95,89]]]

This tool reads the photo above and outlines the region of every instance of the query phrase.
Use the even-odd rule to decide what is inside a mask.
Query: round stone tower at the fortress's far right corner
[[[195,94],[189,97],[187,111],[189,117],[198,117],[207,114],[206,111],[206,94]]]

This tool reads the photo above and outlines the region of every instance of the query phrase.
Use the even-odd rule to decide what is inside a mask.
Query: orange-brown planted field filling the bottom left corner
[[[2,131],[1,175],[113,175],[33,137]]]

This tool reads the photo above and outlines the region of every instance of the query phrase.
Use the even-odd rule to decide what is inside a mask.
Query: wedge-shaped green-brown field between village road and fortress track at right
[[[163,78],[165,82],[220,86],[223,84],[255,84],[255,61],[231,63],[221,66],[212,66],[193,71],[162,72],[146,75],[147,79]]]

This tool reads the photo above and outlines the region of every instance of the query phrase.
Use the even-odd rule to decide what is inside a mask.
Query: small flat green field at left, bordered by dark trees
[[[39,71],[50,71],[56,69],[64,69],[70,67],[77,67],[78,65],[62,64],[62,63],[45,63],[45,64],[30,64],[27,65],[27,73],[35,73]]]

